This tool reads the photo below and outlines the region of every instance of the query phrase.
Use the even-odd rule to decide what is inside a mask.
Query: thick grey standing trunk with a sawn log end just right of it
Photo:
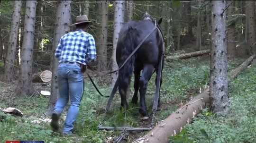
[[[18,86],[16,96],[31,95],[34,92],[32,86],[32,60],[34,47],[34,28],[36,20],[37,0],[26,1],[26,16],[24,21],[24,35],[21,50],[21,65],[19,69]],[[18,28],[17,28],[18,30]],[[15,40],[17,41],[17,39]]]

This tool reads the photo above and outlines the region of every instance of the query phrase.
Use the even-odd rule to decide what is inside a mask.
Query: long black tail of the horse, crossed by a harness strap
[[[123,64],[124,61],[129,57],[129,55],[133,52],[133,50],[136,48],[135,45],[137,43],[137,29],[128,27],[128,33],[126,34],[125,40],[122,44],[121,50],[121,62],[120,64]],[[127,63],[119,70],[119,93],[126,95],[131,76],[133,73],[133,68],[134,68],[134,63],[135,63],[135,55],[130,57],[128,59]]]

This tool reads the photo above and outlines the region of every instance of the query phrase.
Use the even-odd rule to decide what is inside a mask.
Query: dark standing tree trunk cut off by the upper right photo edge
[[[247,18],[248,18],[248,44],[251,53],[256,53],[256,18],[255,18],[255,1],[247,0]]]

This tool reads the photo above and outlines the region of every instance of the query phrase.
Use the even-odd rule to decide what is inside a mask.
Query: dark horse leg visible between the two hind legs
[[[134,94],[132,97],[132,104],[137,104],[138,101],[138,89],[139,89],[139,77],[140,77],[140,69],[134,70]]]

